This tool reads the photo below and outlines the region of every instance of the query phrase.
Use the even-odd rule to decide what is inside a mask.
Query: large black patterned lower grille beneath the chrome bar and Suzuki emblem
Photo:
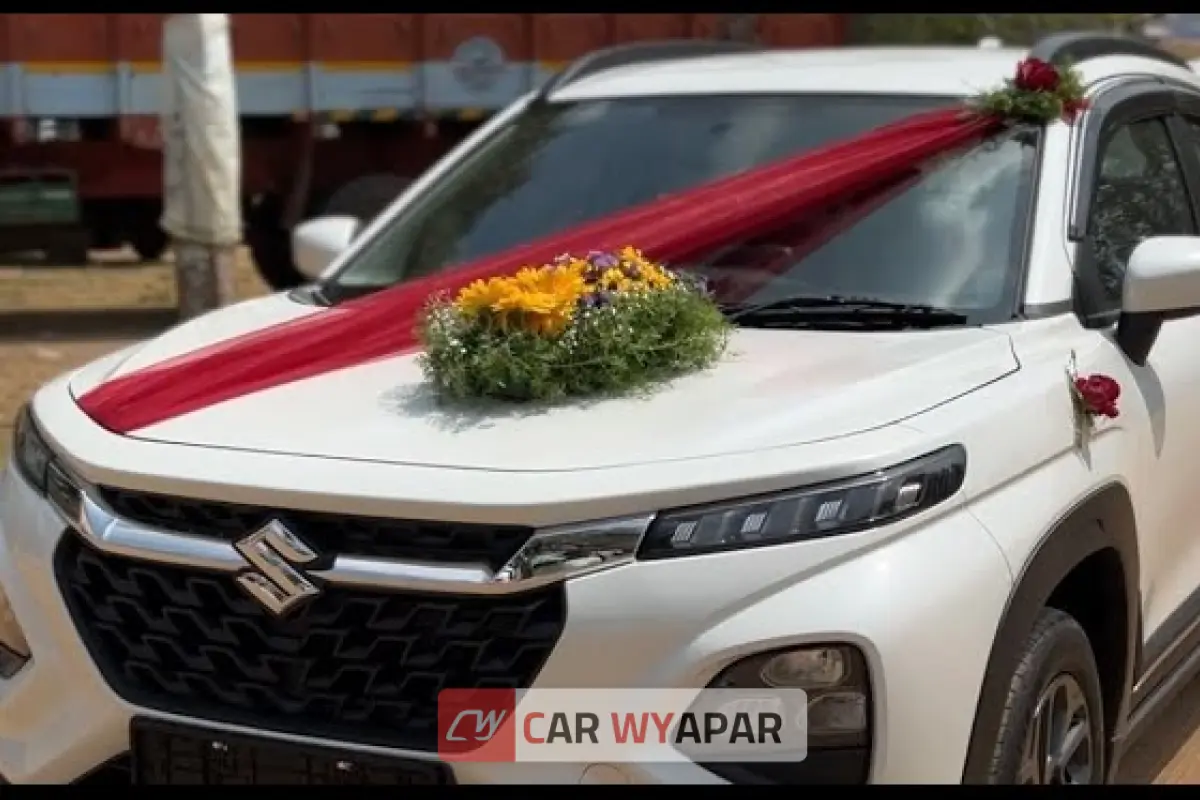
[[[66,534],[55,572],[126,700],[254,728],[437,747],[443,688],[524,688],[562,634],[562,584],[515,595],[329,585],[274,616],[233,577],[109,555]]]

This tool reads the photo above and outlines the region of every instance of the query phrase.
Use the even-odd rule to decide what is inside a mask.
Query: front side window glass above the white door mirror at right
[[[1087,246],[1099,277],[1091,312],[1121,303],[1126,264],[1141,240],[1192,234],[1195,225],[1183,170],[1162,119],[1141,120],[1112,132],[1100,151]]]

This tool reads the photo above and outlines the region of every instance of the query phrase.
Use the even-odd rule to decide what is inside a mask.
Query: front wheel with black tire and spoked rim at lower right
[[[1009,684],[988,782],[1104,783],[1104,700],[1087,634],[1070,615],[1044,608]],[[1061,746],[1067,741],[1080,744]],[[1055,750],[1073,757],[1048,764]]]

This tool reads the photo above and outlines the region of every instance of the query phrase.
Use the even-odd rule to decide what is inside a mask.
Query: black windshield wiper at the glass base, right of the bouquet
[[[722,311],[731,323],[746,327],[940,327],[967,321],[950,308],[841,295],[794,295],[726,305]]]

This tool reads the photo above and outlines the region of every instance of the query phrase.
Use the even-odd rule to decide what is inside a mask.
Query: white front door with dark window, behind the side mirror
[[[1175,90],[1115,94],[1108,108],[1098,104],[1103,115],[1085,132],[1092,146],[1085,148],[1090,161],[1080,185],[1088,201],[1075,257],[1076,311],[1097,333],[1080,369],[1114,375],[1124,386],[1133,435],[1121,468],[1138,521],[1141,666],[1148,668],[1200,620],[1200,318],[1164,323],[1141,367],[1124,357],[1112,326],[1138,243],[1200,230],[1200,158],[1181,142],[1186,126]]]

